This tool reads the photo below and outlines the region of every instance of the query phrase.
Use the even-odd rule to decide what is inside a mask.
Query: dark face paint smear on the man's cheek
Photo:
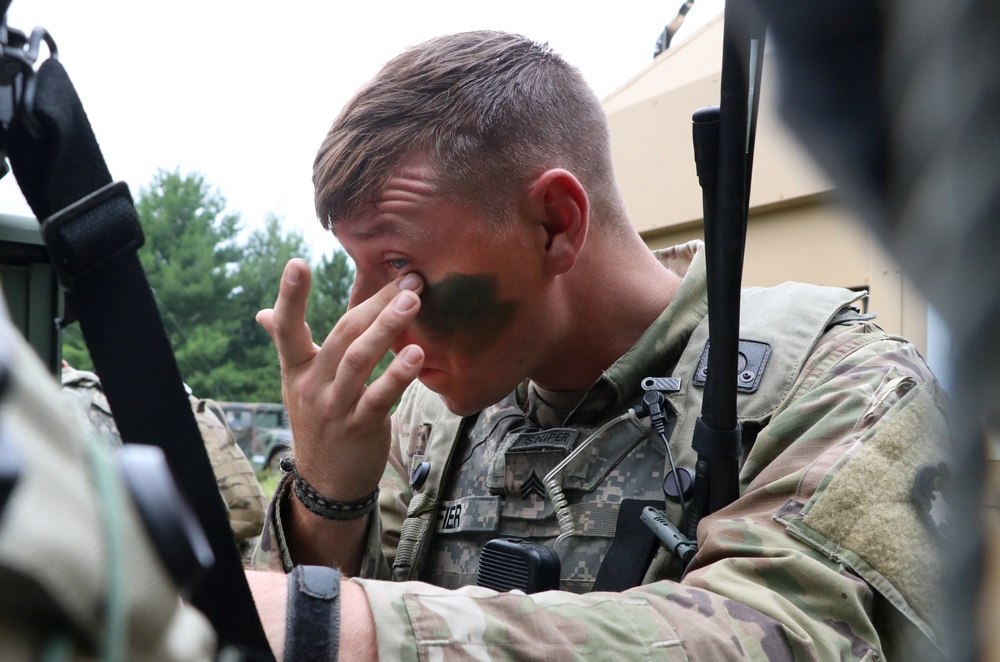
[[[431,339],[468,353],[484,349],[513,323],[516,301],[497,298],[496,278],[452,274],[425,283],[417,321]]]

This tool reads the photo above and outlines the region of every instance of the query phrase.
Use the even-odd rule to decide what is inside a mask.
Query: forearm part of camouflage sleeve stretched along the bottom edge
[[[748,584],[757,602],[662,581],[623,593],[498,594],[467,586],[361,580],[387,659],[844,659],[879,654],[870,593],[844,578],[854,618],[828,620]],[[400,608],[405,605],[405,609]],[[846,611],[844,607],[839,610]]]

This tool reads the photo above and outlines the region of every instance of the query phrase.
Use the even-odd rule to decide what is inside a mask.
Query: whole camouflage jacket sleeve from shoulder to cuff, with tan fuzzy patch
[[[760,432],[742,497],[702,521],[680,581],[525,595],[354,579],[380,657],[874,660],[897,637],[936,654],[937,553],[910,494],[943,458],[942,410],[911,345],[836,327]]]

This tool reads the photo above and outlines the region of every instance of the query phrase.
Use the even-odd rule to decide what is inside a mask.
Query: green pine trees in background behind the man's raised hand
[[[301,257],[314,273],[307,319],[322,343],[347,310],[354,270],[346,254],[313,264],[301,232],[273,214],[241,234],[239,215],[197,173],[159,171],[136,209],[146,236],[139,258],[185,382],[217,400],[279,402],[277,353],[254,317],[274,305],[288,260]],[[63,357],[92,369],[78,325],[64,332]]]

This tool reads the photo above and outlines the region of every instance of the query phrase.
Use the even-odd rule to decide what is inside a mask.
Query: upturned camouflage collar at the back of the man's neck
[[[590,387],[566,424],[587,423],[609,408],[623,409],[639,393],[643,379],[666,376],[708,314],[704,244],[691,241],[654,254],[665,269],[683,278],[677,293],[635,345]]]

